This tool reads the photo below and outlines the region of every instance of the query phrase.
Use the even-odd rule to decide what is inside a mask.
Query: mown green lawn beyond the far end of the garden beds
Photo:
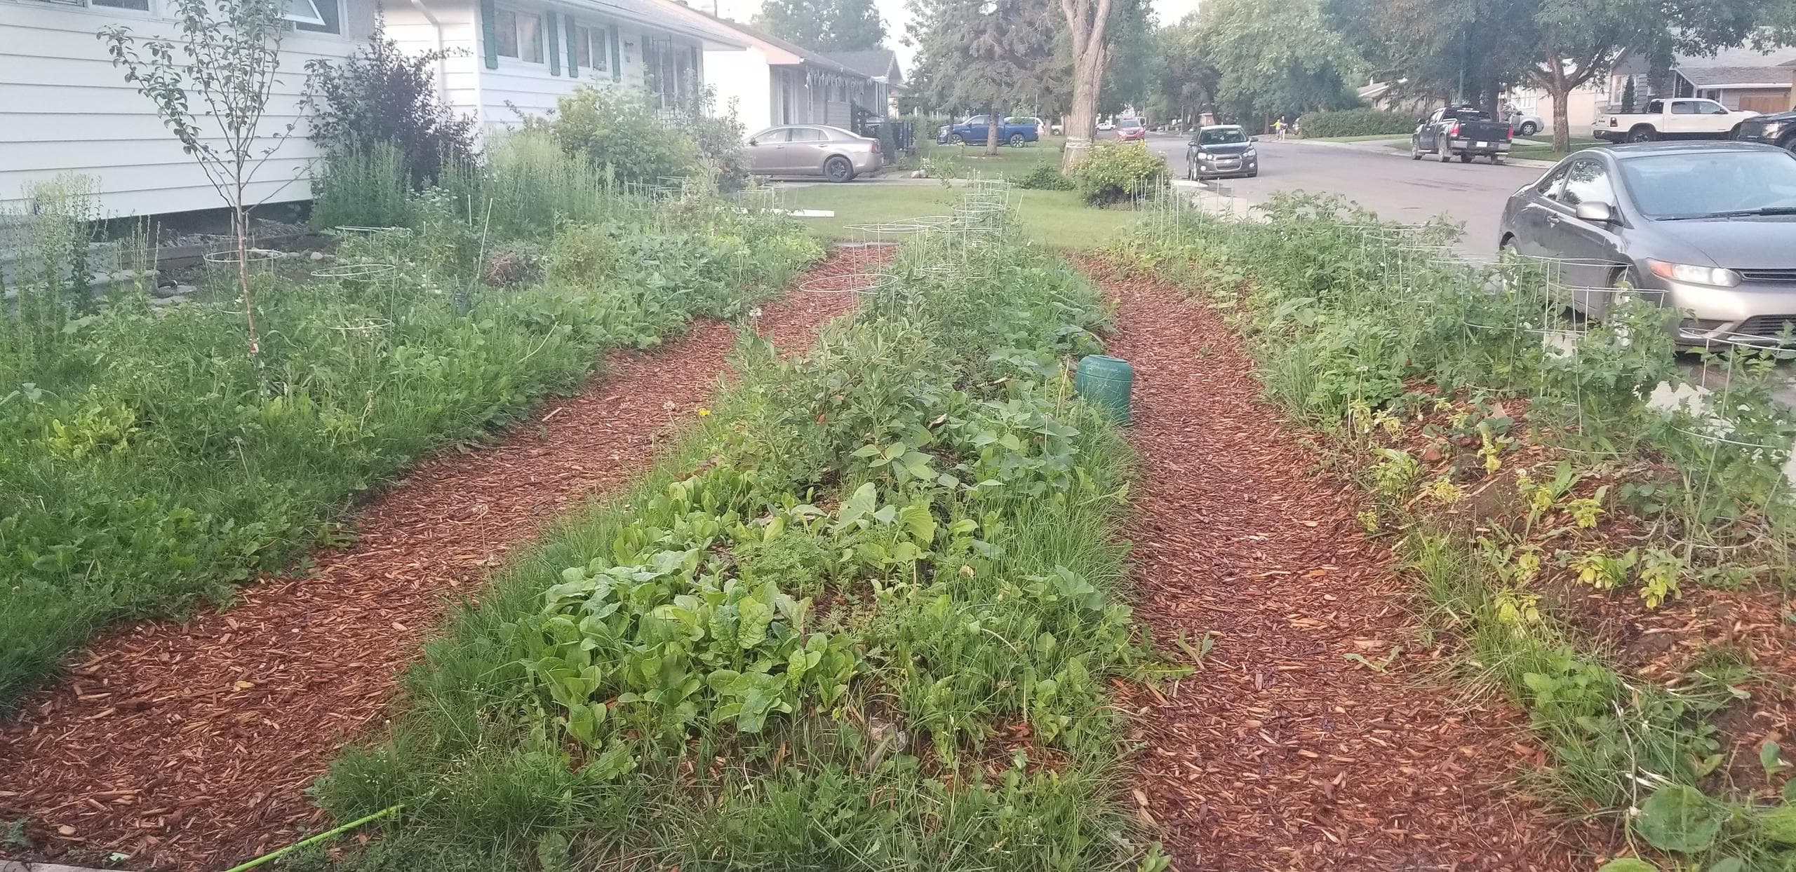
[[[1006,149],[1020,151],[1020,149]],[[848,224],[893,222],[921,215],[954,212],[964,183],[954,188],[939,183],[848,183],[808,185],[785,194],[785,208],[833,210],[835,217],[799,219],[823,239],[862,240],[871,235],[850,230]],[[1017,212],[1029,239],[1049,248],[1096,248],[1110,240],[1117,230],[1135,222],[1135,212],[1126,208],[1090,208],[1072,190],[1017,190]],[[887,237],[896,240],[898,237]]]

